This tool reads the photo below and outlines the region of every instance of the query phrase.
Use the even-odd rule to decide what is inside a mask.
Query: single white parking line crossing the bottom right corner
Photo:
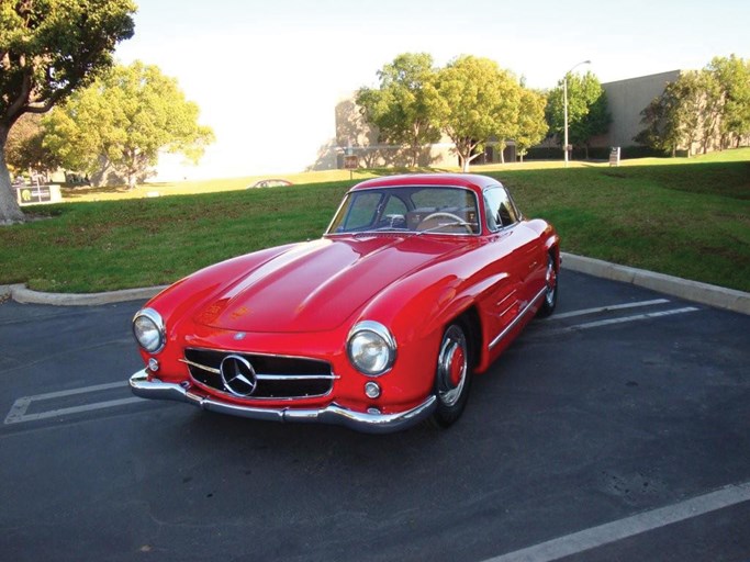
[[[750,482],[559,537],[484,562],[551,562],[750,501]]]

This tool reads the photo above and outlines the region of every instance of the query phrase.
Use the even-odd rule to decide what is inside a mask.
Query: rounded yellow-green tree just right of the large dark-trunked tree
[[[198,105],[156,66],[115,66],[43,121],[45,144],[64,166],[103,179],[114,171],[128,188],[145,179],[160,151],[192,161],[213,140],[198,124]]]

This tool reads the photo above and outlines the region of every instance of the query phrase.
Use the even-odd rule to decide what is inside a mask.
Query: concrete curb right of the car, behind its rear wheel
[[[643,269],[609,263],[601,259],[584,258],[562,252],[562,266],[571,271],[631,283],[634,285],[671,294],[686,301],[750,315],[750,293],[710,285],[679,277],[654,273]]]

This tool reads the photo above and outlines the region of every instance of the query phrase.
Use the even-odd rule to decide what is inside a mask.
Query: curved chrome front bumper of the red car
[[[398,414],[366,414],[352,412],[337,404],[331,404],[324,408],[258,408],[222,402],[213,396],[199,394],[179,384],[161,382],[158,379],[149,381],[145,369],[133,374],[130,382],[133,394],[142,398],[187,402],[211,412],[268,422],[340,425],[367,434],[389,434],[405,429],[429,417],[437,406],[435,396],[429,396],[418,406]]]

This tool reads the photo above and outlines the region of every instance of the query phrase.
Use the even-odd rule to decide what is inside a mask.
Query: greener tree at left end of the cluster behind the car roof
[[[361,88],[357,105],[378,127],[382,140],[408,148],[412,167],[416,167],[422,147],[440,138],[430,112],[435,97],[433,57],[426,53],[399,55],[378,77],[380,88]]]

